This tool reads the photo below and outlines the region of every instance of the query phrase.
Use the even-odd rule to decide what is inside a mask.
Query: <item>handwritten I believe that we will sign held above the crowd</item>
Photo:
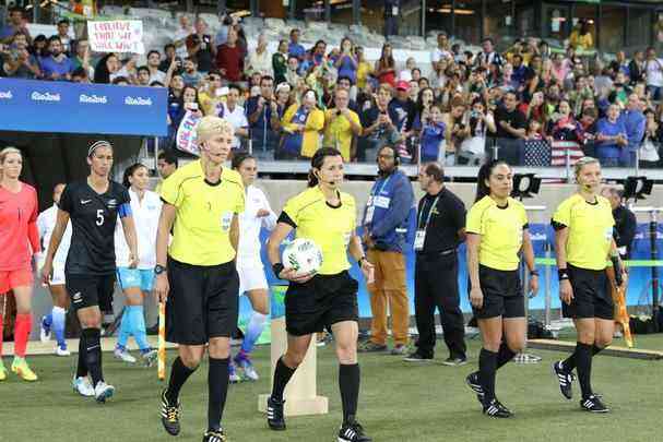
[[[140,20],[88,21],[87,31],[90,46],[96,52],[145,53]]]

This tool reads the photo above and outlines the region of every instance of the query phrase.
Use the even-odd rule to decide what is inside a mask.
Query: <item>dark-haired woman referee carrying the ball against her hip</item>
[[[339,358],[339,386],[343,404],[340,442],[370,442],[357,422],[359,365],[357,363],[358,284],[350,276],[347,252],[360,263],[367,280],[372,265],[366,260],[356,235],[356,205],[352,195],[341,192],[343,158],[335,148],[322,147],[311,158],[308,189],[292,198],[283,208],[268,242],[274,274],[289,280],[285,295],[287,350],[279,359],[274,384],[268,399],[268,423],[285,430],[283,391],[301,363],[313,333],[331,328]],[[284,268],[279,247],[295,229],[297,238],[316,242],[322,251],[322,266],[315,275],[295,277]]]

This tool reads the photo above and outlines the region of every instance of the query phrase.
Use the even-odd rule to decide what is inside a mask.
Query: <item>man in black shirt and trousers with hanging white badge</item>
[[[445,171],[437,163],[419,169],[419,186],[426,192],[418,204],[414,240],[414,309],[419,339],[417,349],[405,360],[421,362],[433,359],[437,308],[449,348],[449,358],[442,363],[461,366],[467,358],[458,288],[457,248],[465,239],[465,205],[445,188],[443,180]]]

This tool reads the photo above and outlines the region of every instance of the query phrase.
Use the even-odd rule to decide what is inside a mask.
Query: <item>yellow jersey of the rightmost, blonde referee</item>
[[[609,201],[596,196],[594,204],[576,193],[564,200],[553,215],[553,223],[569,228],[566,260],[580,268],[603,270],[613,240],[615,218]]]

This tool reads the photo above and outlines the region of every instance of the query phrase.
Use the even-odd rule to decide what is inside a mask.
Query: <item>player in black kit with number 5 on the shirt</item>
[[[123,186],[108,178],[113,167],[111,144],[107,141],[92,144],[87,151],[87,179],[68,184],[60,198],[58,219],[42,277],[45,283],[49,280],[54,256],[71,219],[71,247],[64,275],[67,291],[82,328],[73,387],[81,395],[95,396],[103,403],[113,396],[115,389],[106,384],[102,371],[99,306],[108,307],[113,300],[116,272],[114,232],[118,216],[129,246],[131,267],[137,264],[138,253],[129,193]],[[88,374],[92,383],[87,380]]]

